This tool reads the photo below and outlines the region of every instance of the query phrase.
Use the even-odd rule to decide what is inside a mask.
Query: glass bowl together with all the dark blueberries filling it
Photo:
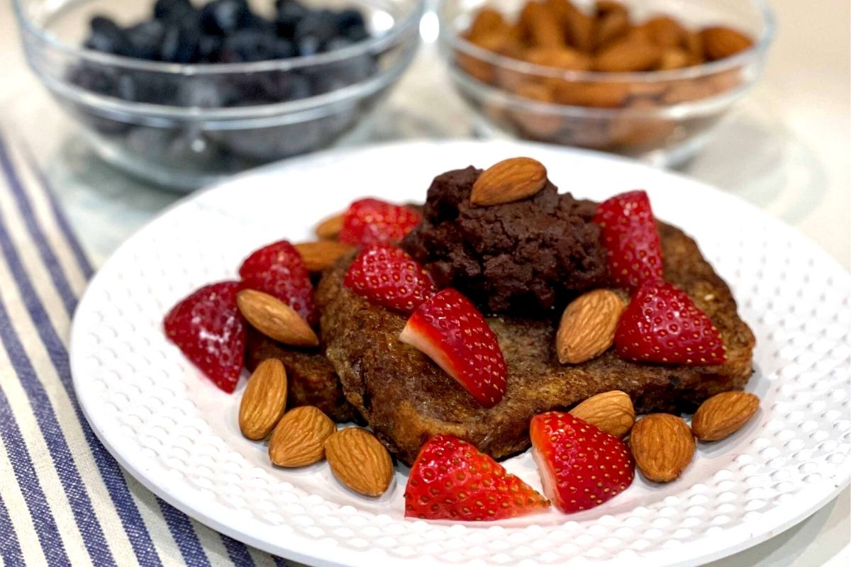
[[[332,144],[419,44],[425,0],[14,0],[26,58],[106,162],[191,190]]]

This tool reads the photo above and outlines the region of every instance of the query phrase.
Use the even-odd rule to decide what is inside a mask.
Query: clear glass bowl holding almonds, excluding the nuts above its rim
[[[441,53],[486,133],[607,150],[676,167],[757,81],[774,33],[764,0],[623,0],[634,21],[671,15],[684,26],[730,26],[754,39],[727,59],[670,71],[567,71],[488,51],[462,35],[487,6],[516,19],[526,0],[443,0]],[[576,1],[580,9],[591,2]],[[551,93],[557,93],[553,100]],[[545,94],[545,95],[542,95]]]

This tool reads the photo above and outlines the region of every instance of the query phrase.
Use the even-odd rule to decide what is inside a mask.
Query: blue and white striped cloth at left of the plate
[[[151,494],[94,436],[68,366],[92,266],[33,163],[0,130],[0,564],[286,565]]]

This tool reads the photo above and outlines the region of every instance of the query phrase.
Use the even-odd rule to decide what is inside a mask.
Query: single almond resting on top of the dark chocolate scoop
[[[546,184],[546,168],[531,157],[512,157],[488,167],[476,179],[470,201],[477,207],[500,205],[533,196]]]

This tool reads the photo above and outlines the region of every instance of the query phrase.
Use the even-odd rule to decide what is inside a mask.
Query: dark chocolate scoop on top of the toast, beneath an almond
[[[534,316],[605,285],[594,203],[559,195],[548,180],[528,199],[473,207],[481,173],[467,167],[437,176],[422,222],[402,241],[437,286],[455,287],[488,313]]]

